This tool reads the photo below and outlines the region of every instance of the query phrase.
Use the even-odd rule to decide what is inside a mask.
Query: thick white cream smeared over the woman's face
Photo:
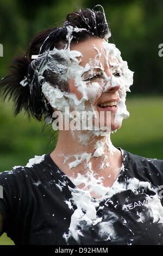
[[[70,31],[69,31],[70,36]],[[71,36],[70,36],[71,38]],[[53,59],[55,54],[59,54],[60,57],[65,59],[65,72],[63,73],[63,81],[73,79],[74,85],[76,86],[79,93],[82,94],[82,99],[78,99],[76,94],[61,92],[59,87],[54,88],[49,83],[45,82],[42,85],[42,92],[48,97],[49,102],[52,107],[57,108],[61,111],[64,111],[65,107],[72,107],[75,111],[85,111],[90,110],[92,114],[96,117],[95,109],[93,108],[93,103],[97,100],[103,92],[111,86],[120,86],[120,101],[118,102],[118,111],[115,114],[115,123],[122,122],[123,119],[129,117],[129,112],[126,109],[125,101],[126,101],[126,93],[129,92],[129,87],[133,83],[133,72],[128,69],[127,62],[124,62],[121,58],[121,52],[115,47],[114,44],[109,44],[105,40],[103,40],[103,47],[105,50],[105,62],[106,66],[111,66],[112,74],[118,72],[120,77],[116,77],[114,75],[108,76],[104,72],[104,67],[102,63],[99,61],[99,57],[101,56],[101,51],[94,45],[93,48],[97,51],[97,55],[95,59],[90,59],[90,62],[85,66],[80,65],[80,58],[82,57],[82,53],[78,51],[71,51],[70,47],[67,47],[62,50],[55,49],[50,51],[48,54]],[[55,67],[57,69],[63,70],[64,66],[59,63],[53,61],[55,63]],[[53,64],[52,62],[52,64]],[[39,77],[42,79],[43,72],[46,69],[51,69],[51,65],[45,65],[41,70]],[[56,69],[56,68],[55,68]],[[103,78],[101,79],[101,83],[92,82],[87,84],[87,81],[84,81],[83,74],[87,72],[89,76],[95,75],[97,71],[96,69],[100,69]],[[53,71],[55,71],[53,69]],[[90,101],[90,109],[85,108],[85,101]],[[95,132],[97,134],[97,132]]]

